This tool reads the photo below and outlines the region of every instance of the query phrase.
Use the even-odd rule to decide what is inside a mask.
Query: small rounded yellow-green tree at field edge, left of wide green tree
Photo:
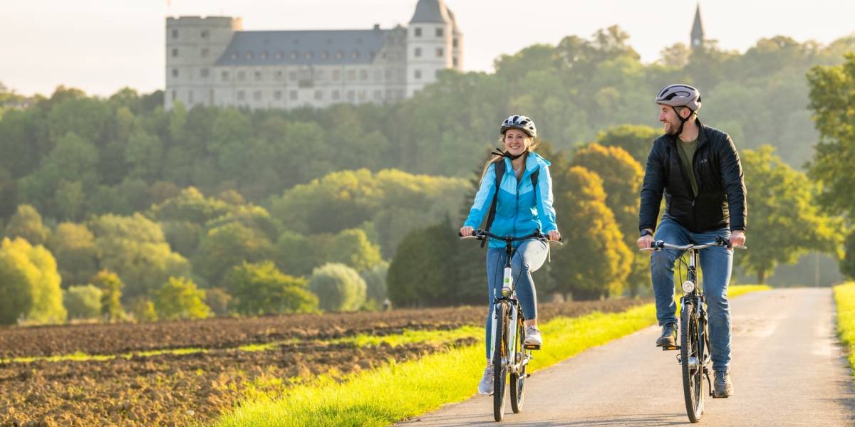
[[[155,310],[160,319],[205,319],[211,311],[204,300],[205,291],[189,278],[169,278],[156,293]]]

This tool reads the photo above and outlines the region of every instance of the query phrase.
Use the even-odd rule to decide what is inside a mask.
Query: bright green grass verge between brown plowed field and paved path
[[[730,295],[768,290],[767,286],[731,288]],[[623,313],[592,313],[556,318],[540,325],[549,346],[537,353],[533,370],[628,335],[653,323],[653,304]],[[482,344],[428,354],[405,363],[390,362],[336,382],[329,377],[287,389],[281,395],[257,395],[241,401],[216,425],[388,425],[432,411],[475,394],[484,369]]]

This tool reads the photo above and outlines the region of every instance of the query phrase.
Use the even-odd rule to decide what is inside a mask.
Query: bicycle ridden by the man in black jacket
[[[706,378],[707,390],[712,398],[712,380],[710,379],[711,352],[709,325],[706,319],[706,298],[701,290],[698,280],[698,252],[711,246],[724,246],[732,249],[734,246],[721,236],[716,236],[716,241],[704,244],[675,245],[657,240],[650,248],[641,250],[663,250],[676,249],[688,252],[688,263],[679,258],[681,264],[686,266],[687,280],[681,283],[683,296],[680,299],[680,345],[664,347],[663,351],[680,350],[677,362],[681,366],[683,374],[683,397],[686,400],[686,412],[689,421],[697,423],[704,412],[704,378]],[[746,249],[744,246],[735,248]]]

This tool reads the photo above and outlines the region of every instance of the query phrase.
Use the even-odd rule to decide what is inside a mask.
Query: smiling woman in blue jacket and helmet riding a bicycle
[[[549,161],[534,153],[539,143],[534,121],[524,115],[512,115],[502,122],[500,129],[504,154],[495,155],[487,162],[481,175],[481,188],[475,195],[475,202],[469,210],[469,217],[463,223],[460,234],[472,235],[475,227],[488,216],[494,196],[497,196],[495,216],[489,231],[497,236],[527,236],[534,231],[542,231],[550,240],[559,240],[561,234],[555,222],[555,209],[552,208],[552,180],[549,174]],[[496,189],[496,165],[504,162],[501,183]],[[532,174],[537,173],[536,187]],[[537,295],[531,272],[543,266],[548,251],[546,243],[529,239],[515,243],[516,252],[510,261],[516,283],[516,297],[522,306],[525,317],[526,339],[528,345],[540,346],[543,339],[537,328]],[[504,242],[491,240],[486,252],[487,305],[492,307],[494,295],[502,289],[502,269],[505,264]],[[492,365],[490,361],[490,339],[492,329],[492,309],[486,317],[486,360],[484,377],[478,385],[478,392],[490,395],[493,389]]]

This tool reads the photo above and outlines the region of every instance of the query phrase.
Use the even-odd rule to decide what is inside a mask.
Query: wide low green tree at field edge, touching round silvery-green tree
[[[241,314],[311,313],[318,307],[318,297],[306,289],[304,278],[282,274],[270,261],[234,266],[226,282],[233,307]]]

